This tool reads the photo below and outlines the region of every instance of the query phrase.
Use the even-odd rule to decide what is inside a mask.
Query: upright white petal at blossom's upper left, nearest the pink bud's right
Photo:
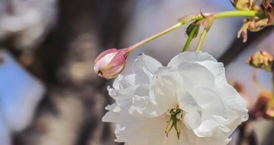
[[[144,69],[149,73],[154,74],[162,64],[153,59],[152,57],[141,54],[133,64],[133,73],[144,73]]]

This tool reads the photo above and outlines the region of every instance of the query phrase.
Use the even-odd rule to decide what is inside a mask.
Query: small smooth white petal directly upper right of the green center
[[[183,111],[192,112],[192,111],[202,110],[202,108],[197,104],[193,96],[186,91],[177,93],[177,99],[178,99],[179,107]]]

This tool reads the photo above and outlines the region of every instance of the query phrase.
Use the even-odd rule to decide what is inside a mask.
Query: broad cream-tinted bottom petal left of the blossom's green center
[[[167,116],[139,120],[131,115],[120,116],[116,126],[116,142],[128,145],[163,145]]]

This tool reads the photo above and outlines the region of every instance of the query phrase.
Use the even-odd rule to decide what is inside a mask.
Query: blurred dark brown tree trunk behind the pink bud
[[[46,88],[31,126],[14,145],[116,145],[109,123],[106,80],[93,72],[96,56],[120,38],[136,0],[60,0],[56,27],[33,52],[27,69]]]

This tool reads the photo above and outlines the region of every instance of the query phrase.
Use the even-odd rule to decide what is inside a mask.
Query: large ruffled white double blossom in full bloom
[[[227,83],[222,63],[202,52],[184,52],[163,67],[141,54],[132,74],[108,87],[115,103],[104,122],[116,123],[125,145],[226,145],[248,119],[246,103]]]

